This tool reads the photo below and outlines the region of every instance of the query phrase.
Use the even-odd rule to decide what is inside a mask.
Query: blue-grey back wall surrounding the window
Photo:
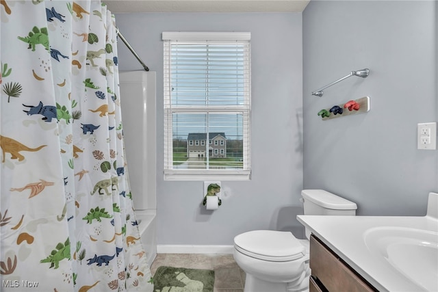
[[[116,25],[157,71],[158,244],[229,245],[261,228],[300,236],[302,14],[116,14]],[[212,213],[201,205],[203,182],[163,181],[162,31],[251,33],[252,180],[222,181],[222,206]],[[120,41],[118,50],[120,70],[142,69]]]

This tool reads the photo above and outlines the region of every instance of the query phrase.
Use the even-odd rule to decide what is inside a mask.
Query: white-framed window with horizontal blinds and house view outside
[[[162,38],[164,179],[249,179],[250,33]]]

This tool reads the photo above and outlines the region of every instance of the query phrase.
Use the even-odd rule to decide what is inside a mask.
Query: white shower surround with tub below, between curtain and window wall
[[[149,266],[157,256],[156,79],[154,71],[120,72],[129,185]]]

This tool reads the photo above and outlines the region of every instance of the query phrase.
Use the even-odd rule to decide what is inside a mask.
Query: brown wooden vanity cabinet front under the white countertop
[[[310,268],[309,292],[378,291],[314,235],[310,237]]]

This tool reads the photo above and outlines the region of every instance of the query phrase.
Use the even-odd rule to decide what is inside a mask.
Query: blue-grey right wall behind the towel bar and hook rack
[[[304,187],[357,202],[361,215],[424,215],[438,191],[438,150],[417,150],[417,123],[436,122],[435,1],[311,1],[303,12]],[[370,68],[366,79],[344,77]],[[368,114],[318,111],[370,96]]]

